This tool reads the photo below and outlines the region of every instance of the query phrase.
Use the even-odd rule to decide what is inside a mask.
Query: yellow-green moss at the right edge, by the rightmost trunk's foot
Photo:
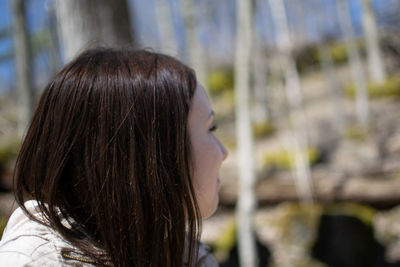
[[[370,98],[399,98],[400,97],[400,73],[390,76],[382,84],[368,83],[368,96]],[[344,87],[347,96],[354,98],[356,87],[348,84]]]

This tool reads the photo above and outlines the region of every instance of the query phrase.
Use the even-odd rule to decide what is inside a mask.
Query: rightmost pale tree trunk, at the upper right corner
[[[385,66],[379,48],[379,34],[371,0],[362,0],[363,3],[363,28],[367,45],[368,68],[371,80],[382,83],[386,79]]]

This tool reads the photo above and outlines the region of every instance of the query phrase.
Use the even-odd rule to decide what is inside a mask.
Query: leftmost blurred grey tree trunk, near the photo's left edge
[[[14,57],[16,68],[17,102],[19,108],[19,136],[27,130],[34,109],[31,51],[26,24],[24,0],[12,0]]]

